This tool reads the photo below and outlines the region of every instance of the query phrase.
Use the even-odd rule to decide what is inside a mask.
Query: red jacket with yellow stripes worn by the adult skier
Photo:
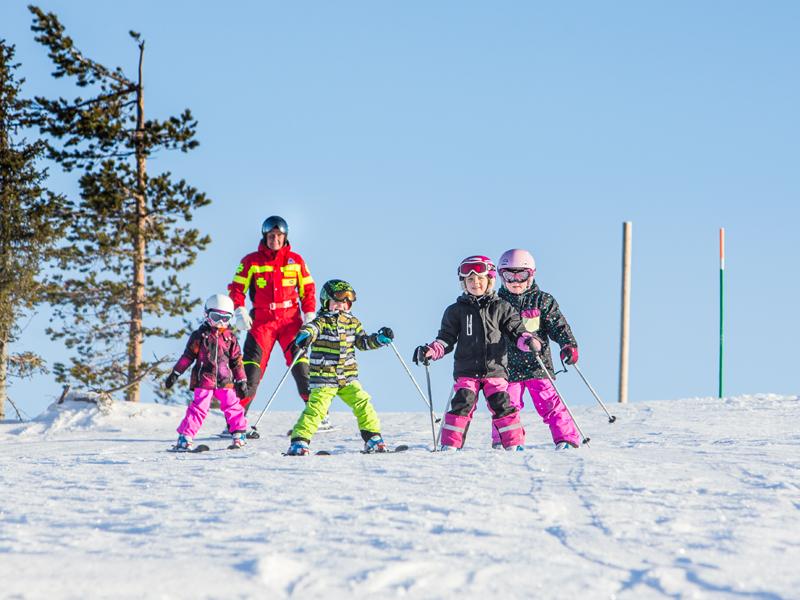
[[[303,257],[292,252],[287,243],[280,250],[270,250],[261,241],[236,268],[228,295],[235,307],[244,306],[250,296],[250,315],[256,323],[291,319],[297,306],[304,313],[316,309],[316,286]]]

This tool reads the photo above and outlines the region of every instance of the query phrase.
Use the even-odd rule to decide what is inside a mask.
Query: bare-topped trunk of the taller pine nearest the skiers
[[[136,381],[142,364],[142,319],[145,295],[145,254],[147,250],[147,192],[145,177],[147,162],[144,153],[144,88],[142,86],[142,63],[144,42],[139,44],[139,85],[136,88],[136,223],[133,236],[133,288],[131,302],[131,325],[128,335],[128,381]],[[139,401],[139,383],[135,383],[125,394],[129,402]]]

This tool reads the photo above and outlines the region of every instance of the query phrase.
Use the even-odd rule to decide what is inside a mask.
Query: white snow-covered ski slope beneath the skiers
[[[341,405],[340,405],[341,406]],[[800,399],[577,407],[589,447],[462,452],[427,413],[355,420],[283,457],[296,413],[239,451],[166,452],[183,409],[66,402],[0,424],[2,598],[800,598]],[[380,407],[378,407],[380,410]],[[580,595],[580,596],[579,596]]]

